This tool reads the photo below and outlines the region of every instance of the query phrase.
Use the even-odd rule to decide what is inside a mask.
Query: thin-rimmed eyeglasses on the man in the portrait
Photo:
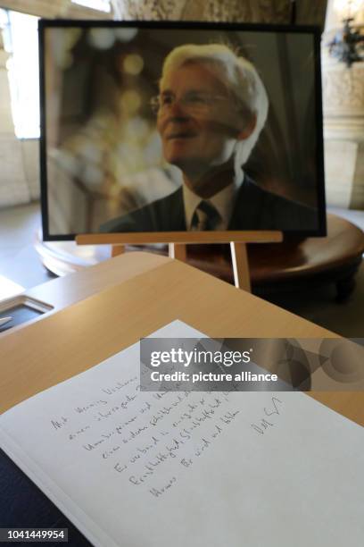
[[[163,93],[152,97],[150,104],[154,114],[164,114],[176,103],[183,106],[188,114],[203,114],[209,112],[217,102],[227,99],[228,97],[190,91],[179,99],[172,93]]]

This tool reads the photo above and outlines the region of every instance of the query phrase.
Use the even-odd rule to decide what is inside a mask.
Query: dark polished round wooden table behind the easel
[[[363,214],[364,215],[364,214]],[[37,251],[45,267],[56,275],[76,272],[110,257],[107,246],[85,248],[74,241],[43,242]],[[127,246],[127,250],[148,250],[168,254],[165,246]],[[335,283],[338,300],[346,299],[354,288],[354,278],[364,252],[364,232],[335,215],[327,215],[327,237],[286,238],[283,243],[248,245],[252,292],[261,296],[303,290]],[[230,246],[188,245],[187,263],[233,283]]]

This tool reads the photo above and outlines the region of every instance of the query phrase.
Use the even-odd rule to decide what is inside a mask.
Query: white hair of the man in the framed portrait
[[[212,63],[217,68],[217,76],[233,95],[238,108],[248,116],[254,116],[256,124],[252,134],[236,145],[236,170],[241,169],[249,158],[261,130],[267,120],[269,100],[261,77],[249,61],[236,55],[223,44],[186,44],[177,46],[164,60],[160,85],[168,72],[186,63]],[[244,128],[242,128],[243,130]]]

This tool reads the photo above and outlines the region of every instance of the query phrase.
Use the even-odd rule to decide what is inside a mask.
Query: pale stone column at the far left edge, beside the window
[[[2,29],[0,29],[0,206],[29,202],[21,143],[15,137]]]

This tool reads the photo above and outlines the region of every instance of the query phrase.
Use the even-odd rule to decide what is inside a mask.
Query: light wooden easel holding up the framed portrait
[[[203,232],[203,235],[206,232]],[[223,236],[221,237],[221,233],[223,233]],[[280,243],[283,241],[283,233],[282,231],[241,231],[241,232],[233,232],[231,235],[233,236],[238,233],[238,240],[237,241],[230,241],[230,249],[231,249],[231,260],[233,264],[233,273],[234,273],[234,282],[235,286],[239,289],[247,290],[248,292],[252,291],[252,284],[251,284],[251,278],[250,278],[250,271],[249,271],[249,261],[248,261],[248,253],[247,253],[247,244],[248,243]],[[194,236],[197,234],[197,232],[194,232]],[[218,235],[219,234],[219,235]],[[140,234],[142,237],[143,235]],[[150,234],[149,234],[150,235]],[[172,235],[172,234],[169,234]],[[178,234],[179,235],[179,234]],[[194,244],[194,243],[226,243],[226,232],[217,232],[217,238],[216,240],[211,241],[211,235],[212,232],[208,234],[208,238],[205,239],[203,237],[203,240],[197,239],[188,241],[188,244]],[[215,234],[213,234],[213,237],[215,237]],[[118,257],[119,255],[122,255],[125,251],[125,234],[122,236],[123,241],[119,242],[120,239],[118,238],[118,234],[84,234],[76,236],[76,243],[78,245],[112,245],[112,257]],[[179,238],[178,238],[179,239]],[[195,239],[195,237],[194,237]],[[136,240],[133,241],[133,244],[140,244],[145,243],[146,241],[143,240]],[[155,243],[156,241],[153,241],[153,238],[150,239],[148,237],[148,241],[150,243]],[[157,241],[160,242],[160,241]],[[180,242],[175,243],[169,243],[169,256],[170,258],[176,258],[178,260],[181,260],[182,262],[186,262],[187,257],[187,251],[186,251],[187,243],[181,240]]]

